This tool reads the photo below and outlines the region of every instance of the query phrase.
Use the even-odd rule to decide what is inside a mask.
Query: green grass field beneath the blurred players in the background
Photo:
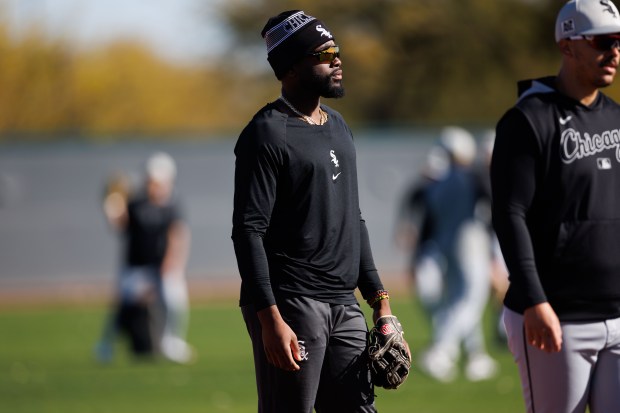
[[[503,346],[489,344],[501,363],[501,373],[490,381],[439,384],[416,371],[415,354],[428,342],[428,322],[411,300],[392,302],[414,352],[414,369],[400,389],[377,389],[380,412],[524,410],[516,366]],[[111,363],[98,364],[92,350],[106,310],[94,304],[0,310],[0,412],[256,411],[250,343],[235,300],[194,303],[189,341],[198,359],[189,366],[134,361],[122,342]],[[488,316],[489,333],[491,323]]]

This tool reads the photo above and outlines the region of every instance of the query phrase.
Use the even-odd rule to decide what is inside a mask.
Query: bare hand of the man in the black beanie
[[[296,361],[301,360],[297,335],[282,319],[278,307],[272,305],[257,312],[263,331],[263,346],[267,361],[286,370],[300,369]]]

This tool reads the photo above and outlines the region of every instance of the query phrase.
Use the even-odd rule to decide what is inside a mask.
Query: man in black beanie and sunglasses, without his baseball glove
[[[391,310],[360,214],[351,131],[320,102],[344,96],[340,50],[299,10],[261,34],[282,95],[235,146],[232,230],[258,411],[375,412],[354,291],[373,321]]]

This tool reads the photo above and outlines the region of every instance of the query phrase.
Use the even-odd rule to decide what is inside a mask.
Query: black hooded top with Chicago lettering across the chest
[[[493,224],[508,265],[505,305],[548,301],[560,320],[620,316],[620,106],[585,106],[528,82],[497,125]]]

